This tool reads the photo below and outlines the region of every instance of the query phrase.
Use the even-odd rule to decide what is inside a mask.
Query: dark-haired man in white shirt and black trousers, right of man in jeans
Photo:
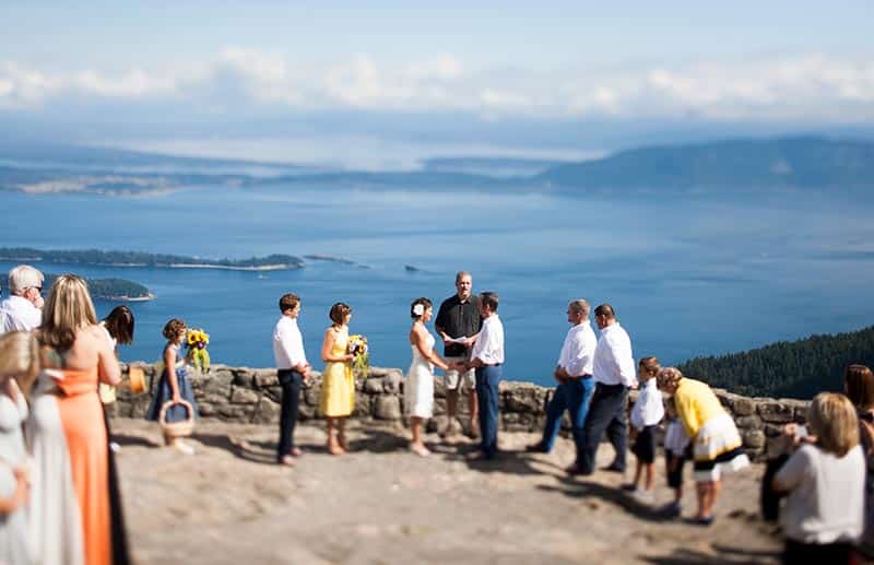
[[[616,450],[616,458],[605,470],[625,472],[625,451],[628,443],[626,400],[628,389],[637,387],[631,339],[619,326],[611,305],[602,304],[595,308],[594,319],[598,329],[601,330],[592,362],[595,388],[583,424],[582,449],[577,451],[576,463],[567,469],[571,474],[594,472],[598,444],[604,432]]]

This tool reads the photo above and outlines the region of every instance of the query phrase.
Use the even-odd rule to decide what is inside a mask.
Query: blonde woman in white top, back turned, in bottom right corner
[[[822,392],[807,425],[812,440],[773,479],[775,490],[789,493],[781,513],[783,563],[849,563],[864,523],[865,461],[855,410],[843,395]]]

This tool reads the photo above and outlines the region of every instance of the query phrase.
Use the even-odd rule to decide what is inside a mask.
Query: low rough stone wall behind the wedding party
[[[138,364],[139,365],[139,364]],[[149,385],[147,393],[131,396],[122,387],[113,414],[122,417],[143,417],[152,399],[156,384],[154,365],[142,366]],[[203,375],[192,374],[191,385],[202,417],[251,424],[275,424],[280,414],[281,389],[276,369],[248,368],[213,365]],[[353,416],[378,420],[402,425],[403,373],[397,368],[371,367],[368,378],[356,379],[356,405]],[[509,432],[540,432],[545,420],[545,408],[553,389],[531,382],[504,381],[500,384],[500,428]],[[803,423],[810,402],[801,400],[775,400],[747,398],[716,389],[722,404],[732,414],[744,440],[744,447],[755,459],[763,459],[782,426],[789,422]],[[321,376],[304,385],[300,402],[300,420],[321,419],[319,397]],[[629,408],[636,398],[631,393]],[[462,423],[466,426],[466,396],[459,402]],[[428,422],[428,431],[441,429],[446,423],[446,390],[444,380],[435,380],[435,417]],[[563,428],[569,429],[565,414]]]

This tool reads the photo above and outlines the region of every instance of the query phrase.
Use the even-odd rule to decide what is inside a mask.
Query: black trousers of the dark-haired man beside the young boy
[[[604,432],[616,450],[616,468],[625,470],[625,449],[628,443],[628,421],[625,414],[627,398],[628,389],[625,385],[595,385],[582,428],[582,449],[577,451],[577,468],[582,474],[594,472],[598,444]]]

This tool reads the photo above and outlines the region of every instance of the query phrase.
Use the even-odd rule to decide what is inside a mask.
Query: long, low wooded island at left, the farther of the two
[[[281,271],[299,269],[304,261],[292,255],[268,255],[249,259],[201,259],[180,255],[141,251],[101,251],[0,248],[0,261],[91,264],[97,267],[150,267],[166,269],[224,269],[231,271]]]

